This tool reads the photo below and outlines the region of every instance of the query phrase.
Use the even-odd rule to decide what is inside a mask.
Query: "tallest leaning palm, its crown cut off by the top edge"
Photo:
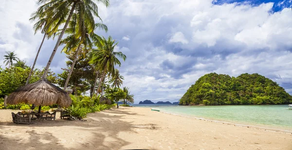
[[[106,7],[109,6],[109,0],[95,0],[97,2],[102,2]],[[75,14],[78,14],[78,20],[80,22],[85,22],[85,20],[93,20],[93,16],[98,16],[98,7],[93,2],[93,0],[38,0],[38,3],[43,4],[40,6],[37,10],[37,13],[40,14],[40,16],[46,16],[51,17],[48,22],[46,22],[46,28],[50,24],[55,24],[55,22],[65,22],[65,25],[62,29],[62,31],[59,34],[58,40],[56,42],[55,48],[51,54],[51,57],[47,63],[47,66],[45,67],[44,74],[42,75],[42,78],[45,79],[46,75],[48,73],[49,67],[51,65],[51,62],[53,61],[53,58],[55,56],[56,50],[58,49],[61,39],[67,29],[67,26],[69,24],[69,21],[71,20],[71,17],[73,15],[73,12],[75,10]],[[86,19],[85,19],[86,18]],[[91,21],[92,22],[92,21]],[[94,26],[94,23],[91,24],[91,26]],[[56,31],[58,27],[54,27],[51,31]],[[81,32],[85,30],[84,23],[81,23],[81,25],[78,26],[77,32]]]

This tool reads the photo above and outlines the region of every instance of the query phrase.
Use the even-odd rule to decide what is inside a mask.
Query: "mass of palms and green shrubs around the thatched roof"
[[[0,68],[0,109],[4,108],[3,98],[20,86],[47,79],[58,86],[73,89],[72,105],[67,111],[73,117],[83,118],[87,113],[109,109],[112,105],[99,102],[99,98],[107,98],[114,104],[119,100],[133,102],[133,95],[128,87],[121,89],[124,77],[116,66],[121,66],[119,59],[126,60],[122,52],[114,51],[118,42],[111,36],[99,36],[96,30],[108,31],[98,15],[95,2],[108,7],[109,0],[38,0],[40,5],[32,14],[31,21],[35,22],[35,33],[43,34],[37,54],[32,66],[18,59],[11,51],[6,51],[4,63],[6,68]],[[99,22],[95,22],[95,18]],[[63,35],[66,37],[63,38]],[[43,69],[36,69],[37,57],[45,38],[57,37],[55,47],[49,61]],[[63,39],[62,39],[63,38]],[[64,45],[62,52],[67,55],[66,68],[55,74],[50,70],[55,53],[60,45]],[[8,66],[8,67],[7,67]],[[86,96],[88,94],[89,96]],[[42,107],[42,110],[54,106]],[[118,105],[117,105],[118,107]],[[28,111],[31,104],[7,105],[7,109]],[[38,108],[36,108],[38,109]]]

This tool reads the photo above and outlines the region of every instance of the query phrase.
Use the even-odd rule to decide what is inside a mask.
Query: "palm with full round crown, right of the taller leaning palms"
[[[104,80],[106,73],[108,72],[111,75],[113,75],[115,72],[114,66],[115,65],[121,66],[121,62],[116,56],[122,58],[124,61],[126,60],[127,57],[122,52],[113,51],[118,43],[115,43],[115,40],[112,40],[111,36],[109,36],[108,39],[102,37],[99,40],[95,40],[94,44],[96,45],[97,49],[91,50],[90,63],[94,65],[96,68],[103,71],[100,80],[101,82],[99,82],[97,88],[97,91],[99,91],[100,85]]]

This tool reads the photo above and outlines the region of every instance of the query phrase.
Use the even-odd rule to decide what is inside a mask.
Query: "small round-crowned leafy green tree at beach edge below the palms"
[[[127,93],[125,93],[122,89],[120,88],[109,88],[106,90],[106,97],[110,100],[113,100],[117,103],[117,108],[119,108],[118,102],[120,100],[125,99],[127,96]]]

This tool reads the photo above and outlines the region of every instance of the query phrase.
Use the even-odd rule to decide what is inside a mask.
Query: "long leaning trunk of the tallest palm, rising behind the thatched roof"
[[[72,14],[73,14],[73,11],[74,11],[74,9],[75,9],[75,3],[73,4],[73,6],[72,6],[72,8],[71,8],[71,11],[70,11],[70,14],[69,14],[69,16],[68,16],[68,18],[67,18],[67,21],[66,21],[66,23],[65,23],[65,25],[64,25],[64,28],[62,29],[62,32],[61,32],[61,34],[59,35],[59,38],[58,38],[58,40],[57,40],[57,43],[56,43],[56,45],[55,45],[55,48],[54,48],[54,50],[53,50],[53,52],[52,52],[52,55],[51,55],[51,57],[50,57],[50,59],[49,59],[49,61],[48,61],[48,64],[47,64],[47,66],[46,66],[46,68],[45,68],[45,70],[44,70],[44,74],[42,75],[42,79],[46,79],[46,77],[47,77],[47,73],[48,73],[48,71],[49,71],[49,67],[51,66],[51,62],[53,61],[53,58],[54,58],[54,56],[55,56],[55,53],[56,53],[56,51],[57,51],[57,49],[58,49],[58,47],[59,47],[59,45],[60,45],[60,42],[61,42],[61,39],[62,39],[62,37],[63,37],[63,35],[64,35],[64,33],[65,33],[65,30],[67,29],[67,26],[68,26],[68,24],[69,24],[69,21],[70,21],[70,19],[71,19],[71,17],[72,17]]]

